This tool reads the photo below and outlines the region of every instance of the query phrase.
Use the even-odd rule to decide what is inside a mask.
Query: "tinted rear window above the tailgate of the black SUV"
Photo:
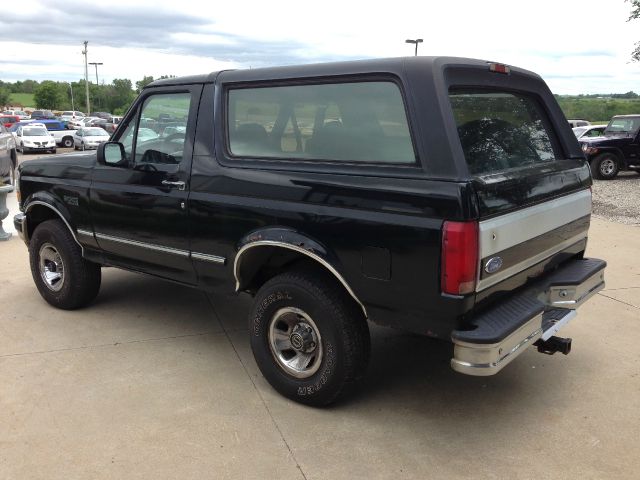
[[[538,102],[527,95],[452,90],[451,108],[472,175],[555,160],[552,133]]]

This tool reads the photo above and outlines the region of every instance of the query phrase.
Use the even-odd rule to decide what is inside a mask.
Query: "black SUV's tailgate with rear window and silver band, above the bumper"
[[[483,303],[584,252],[591,178],[583,159],[567,158],[543,98],[486,87],[449,98],[477,196]]]

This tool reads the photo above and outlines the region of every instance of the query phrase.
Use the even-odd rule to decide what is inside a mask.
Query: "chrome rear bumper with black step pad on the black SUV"
[[[604,288],[603,260],[573,260],[515,296],[454,330],[451,367],[494,375],[536,340],[547,340],[576,317],[576,309]]]

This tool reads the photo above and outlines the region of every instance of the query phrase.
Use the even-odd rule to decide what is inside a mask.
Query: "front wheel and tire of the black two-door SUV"
[[[60,220],[36,227],[29,242],[29,263],[40,295],[54,307],[74,310],[98,295],[100,265],[82,258],[80,246]]]

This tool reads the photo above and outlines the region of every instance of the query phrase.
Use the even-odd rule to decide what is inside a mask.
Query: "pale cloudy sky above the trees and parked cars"
[[[414,54],[540,74],[557,94],[640,93],[624,0],[28,0],[0,10],[0,80],[100,83]],[[89,80],[95,82],[89,65]]]

